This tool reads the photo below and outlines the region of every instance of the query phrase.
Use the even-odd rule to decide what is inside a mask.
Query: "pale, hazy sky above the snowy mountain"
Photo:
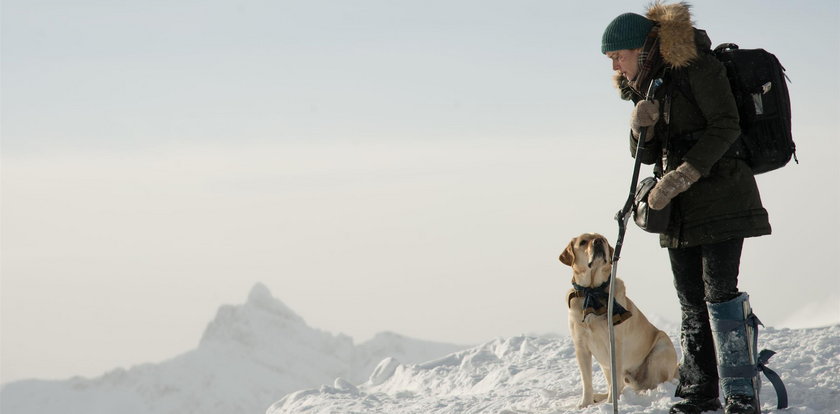
[[[697,3],[792,80],[801,164],[758,177],[740,288],[840,320],[840,4]],[[0,382],[186,352],[257,282],[357,343],[565,333],[557,256],[614,242],[632,172],[601,33],[645,4],[4,1]],[[655,235],[620,263],[678,320]]]

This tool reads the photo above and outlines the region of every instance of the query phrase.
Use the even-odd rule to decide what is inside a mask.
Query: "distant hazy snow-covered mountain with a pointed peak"
[[[264,413],[287,393],[336,377],[361,383],[386,357],[421,362],[462,348],[394,333],[354,345],[309,327],[257,284],[245,304],[218,310],[195,350],[94,379],[13,382],[0,392],[0,412]]]

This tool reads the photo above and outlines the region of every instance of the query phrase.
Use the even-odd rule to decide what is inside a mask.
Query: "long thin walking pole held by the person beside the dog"
[[[661,84],[662,79],[652,80],[650,82],[650,86],[648,87],[645,99],[648,101],[652,100],[653,94],[656,92],[656,88]],[[636,184],[639,181],[639,170],[642,168],[642,158],[639,156],[639,153],[645,149],[645,136],[650,128],[651,127],[646,127],[639,131],[639,141],[636,143],[636,157],[633,163],[633,178],[630,181],[630,195],[627,196],[627,201],[624,203],[624,207],[622,207],[615,215],[615,219],[618,221],[618,237],[616,238],[615,249],[613,250],[613,266],[612,272],[610,273],[610,293],[609,299],[607,299],[607,326],[609,327],[610,336],[610,395],[613,397],[613,413],[615,414],[618,414],[619,397],[618,373],[616,372],[617,367],[615,359],[615,326],[613,325],[612,319],[613,302],[615,301],[615,278],[618,273],[618,259],[621,257],[621,246],[624,244],[624,233],[627,231],[627,221],[630,219],[630,213],[633,211],[633,201],[636,197]]]

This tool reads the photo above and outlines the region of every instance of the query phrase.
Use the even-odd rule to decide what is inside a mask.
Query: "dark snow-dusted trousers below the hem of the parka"
[[[717,360],[706,302],[738,296],[738,267],[744,239],[668,249],[682,309],[680,384],[677,397],[718,397]]]

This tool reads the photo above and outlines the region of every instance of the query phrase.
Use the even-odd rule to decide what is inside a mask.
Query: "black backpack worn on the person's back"
[[[784,167],[791,157],[799,164],[790,132],[787,75],[779,59],[764,49],[739,49],[734,43],[712,53],[726,67],[741,117],[739,141],[753,173]]]

